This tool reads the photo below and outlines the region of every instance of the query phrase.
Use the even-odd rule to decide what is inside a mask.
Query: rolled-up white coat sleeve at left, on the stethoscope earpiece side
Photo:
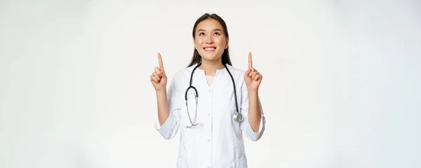
[[[163,125],[159,125],[159,120],[155,120],[155,130],[157,130],[164,139],[173,139],[180,127],[180,104],[178,103],[180,97],[178,92],[177,78],[174,76],[171,80],[171,85],[168,87],[167,99],[170,109],[170,115]]]

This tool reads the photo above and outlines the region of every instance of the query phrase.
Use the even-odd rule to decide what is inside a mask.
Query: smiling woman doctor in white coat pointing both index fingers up
[[[250,52],[246,71],[232,66],[227,25],[218,15],[202,15],[192,36],[192,61],[175,73],[168,92],[158,53],[159,66],[150,76],[158,109],[155,129],[164,139],[180,132],[178,168],[245,168],[243,134],[258,141],[265,131],[258,96],[262,75]]]

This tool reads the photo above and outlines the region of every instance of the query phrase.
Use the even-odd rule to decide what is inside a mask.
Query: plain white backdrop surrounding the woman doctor
[[[415,0],[2,0],[0,167],[174,167],[149,75],[187,66],[203,13],[264,76],[249,167],[421,167]]]

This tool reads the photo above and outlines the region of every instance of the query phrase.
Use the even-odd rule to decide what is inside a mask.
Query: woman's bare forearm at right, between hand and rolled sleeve
[[[260,127],[260,120],[262,119],[262,112],[259,105],[258,91],[248,90],[248,122],[253,132],[258,132]]]

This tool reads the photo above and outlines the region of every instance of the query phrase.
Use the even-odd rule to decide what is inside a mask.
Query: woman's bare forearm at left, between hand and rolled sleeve
[[[156,102],[158,109],[159,125],[162,126],[163,123],[165,123],[168,119],[168,116],[170,115],[170,108],[168,106],[168,99],[165,89],[156,91]]]

